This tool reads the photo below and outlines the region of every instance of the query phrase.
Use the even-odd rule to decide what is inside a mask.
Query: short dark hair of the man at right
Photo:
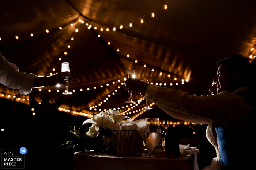
[[[241,76],[235,82],[239,85],[251,86],[252,66],[251,63],[241,54],[237,54],[216,63],[219,68],[221,64],[225,64],[228,75],[233,75],[237,70],[241,71]]]

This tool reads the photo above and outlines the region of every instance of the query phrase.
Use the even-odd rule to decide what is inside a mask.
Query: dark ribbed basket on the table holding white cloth
[[[116,156],[140,156],[143,139],[136,130],[112,130]]]

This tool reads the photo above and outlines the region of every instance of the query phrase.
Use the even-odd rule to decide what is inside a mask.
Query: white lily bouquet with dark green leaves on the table
[[[120,122],[132,119],[121,115],[120,111],[105,111],[93,114],[91,119],[83,122],[83,126],[69,126],[68,135],[60,142],[57,149],[73,149],[74,151],[89,152],[111,152],[113,147],[113,135],[111,130],[119,130]],[[84,124],[92,123],[91,127],[84,128]],[[110,145],[112,146],[108,146]],[[113,151],[112,151],[113,152]]]

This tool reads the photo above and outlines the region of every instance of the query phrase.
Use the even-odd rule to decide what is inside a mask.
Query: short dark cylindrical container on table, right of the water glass
[[[179,156],[179,134],[176,131],[167,131],[165,133],[165,157],[178,158]]]

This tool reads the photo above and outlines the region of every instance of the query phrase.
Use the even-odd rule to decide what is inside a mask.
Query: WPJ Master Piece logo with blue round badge
[[[2,169],[24,169],[26,153],[27,149],[25,147],[20,149],[2,149]]]

